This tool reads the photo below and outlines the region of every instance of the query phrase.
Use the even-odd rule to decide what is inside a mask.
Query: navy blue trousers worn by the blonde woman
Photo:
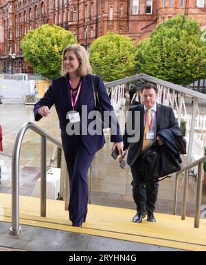
[[[81,226],[87,217],[88,191],[88,169],[94,154],[90,154],[80,138],[75,138],[76,148],[72,150],[65,146],[65,160],[69,172],[69,219],[73,226]],[[65,143],[65,141],[62,141]],[[67,149],[68,148],[68,149]]]

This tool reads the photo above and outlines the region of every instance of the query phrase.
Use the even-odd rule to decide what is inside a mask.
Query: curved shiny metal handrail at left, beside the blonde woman
[[[62,149],[62,144],[47,134],[43,129],[34,123],[24,123],[19,129],[12,153],[12,226],[10,227],[11,235],[19,235],[21,227],[19,226],[19,156],[21,143],[27,129],[32,129],[41,135],[41,216],[46,216],[46,142],[47,139]]]

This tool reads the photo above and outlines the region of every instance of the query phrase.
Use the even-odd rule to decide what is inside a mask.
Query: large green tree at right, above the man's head
[[[177,15],[157,26],[137,48],[139,73],[187,85],[206,78],[206,42],[198,22]]]

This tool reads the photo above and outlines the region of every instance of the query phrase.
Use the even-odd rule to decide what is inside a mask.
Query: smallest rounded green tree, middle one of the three
[[[105,81],[114,81],[134,74],[135,45],[133,41],[111,32],[100,36],[90,46],[90,62],[95,74]]]

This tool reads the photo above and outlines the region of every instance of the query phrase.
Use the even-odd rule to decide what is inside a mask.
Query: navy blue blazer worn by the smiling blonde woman
[[[111,105],[110,99],[106,92],[106,88],[104,87],[104,83],[100,76],[96,76],[96,88],[98,89],[100,102],[102,105],[102,109],[105,111],[113,111],[113,107]],[[67,117],[67,112],[72,110],[71,106],[71,96],[70,96],[70,85],[69,85],[69,74],[67,76],[61,76],[59,78],[55,78],[52,81],[52,85],[49,86],[47,92],[41,98],[41,100],[34,105],[34,117],[35,120],[38,121],[42,118],[40,114],[38,114],[38,109],[42,106],[48,106],[49,109],[54,104],[56,107],[56,112],[58,114],[59,125],[61,129],[62,136],[62,145],[67,152],[72,152],[73,140],[76,136],[68,136],[66,132],[67,123],[69,120]],[[91,83],[91,74],[87,76],[82,76],[82,89],[80,91],[80,96],[78,98],[77,104],[75,106],[75,110],[80,113],[80,118],[82,118],[82,105],[87,105],[87,112],[91,112],[95,110],[95,102],[93,97],[93,89]],[[85,115],[85,114],[84,114]],[[93,120],[88,119],[87,115],[87,123],[91,123]],[[111,124],[110,124],[111,127]],[[84,143],[85,147],[87,147],[89,153],[93,154],[99,149],[101,149],[105,143],[104,133],[102,129],[101,135],[82,135],[80,134],[80,138]],[[117,134],[111,134],[111,142],[122,142],[122,134],[119,129],[119,123],[117,123]]]

